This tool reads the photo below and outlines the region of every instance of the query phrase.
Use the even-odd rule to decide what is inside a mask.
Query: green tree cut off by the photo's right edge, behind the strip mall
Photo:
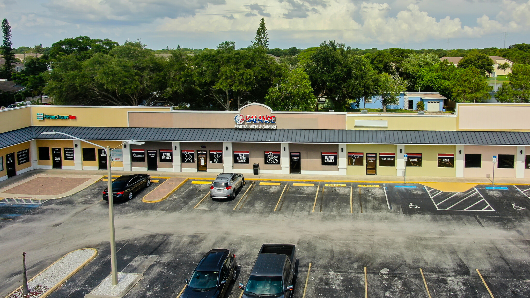
[[[496,94],[500,102],[530,102],[530,65],[514,64],[510,82],[502,83]]]

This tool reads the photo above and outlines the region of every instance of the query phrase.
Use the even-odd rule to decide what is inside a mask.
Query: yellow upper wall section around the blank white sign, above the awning
[[[388,127],[365,127],[355,126],[355,120],[387,120]],[[348,114],[346,118],[346,129],[370,129],[370,130],[456,130],[456,116],[454,115],[377,115],[361,116],[359,114]]]

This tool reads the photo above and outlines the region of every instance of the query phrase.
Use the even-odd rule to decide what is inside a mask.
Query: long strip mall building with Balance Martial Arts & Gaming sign
[[[457,104],[454,115],[26,106],[0,111],[0,180],[31,169],[530,177],[530,104]],[[143,145],[123,144],[128,140]],[[121,145],[121,146],[120,146]],[[407,161],[404,155],[407,154]],[[493,156],[497,162],[493,163]]]

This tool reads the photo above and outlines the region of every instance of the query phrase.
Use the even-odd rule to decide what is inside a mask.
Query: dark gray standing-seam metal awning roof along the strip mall
[[[530,145],[530,132],[464,132],[446,130],[341,130],[234,128],[142,128],[30,126],[0,134],[0,148],[31,139],[68,139],[66,133],[87,140],[257,142],[257,143],[347,143],[347,144],[432,144],[432,145]]]

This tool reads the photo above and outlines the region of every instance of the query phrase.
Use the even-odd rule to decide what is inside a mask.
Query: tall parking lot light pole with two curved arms
[[[89,141],[86,141],[85,139],[82,139],[82,138],[78,138],[78,137],[74,137],[72,135],[68,135],[68,134],[65,134],[65,133],[60,133],[60,132],[56,132],[55,130],[52,131],[52,132],[43,132],[41,133],[43,135],[65,135],[65,136],[68,136],[68,137],[71,137],[71,138],[75,138],[75,139],[78,139],[79,141],[82,141],[82,142],[85,142],[85,143],[89,143],[89,144],[92,144],[94,146],[97,146],[97,147],[100,147],[100,148],[103,148],[105,150],[105,153],[107,153],[107,170],[108,170],[108,173],[107,173],[107,176],[108,176],[108,187],[109,187],[109,224],[110,224],[110,262],[111,262],[111,275],[112,275],[112,285],[117,285],[118,284],[118,262],[117,262],[117,259],[116,259],[116,236],[114,235],[114,200],[113,200],[113,197],[114,195],[112,194],[112,173],[111,173],[111,166],[110,166],[110,162],[111,162],[111,152],[112,150],[120,147],[121,145],[123,144],[131,144],[131,145],[143,145],[145,144],[145,142],[138,142],[138,141],[127,141],[127,142],[123,142],[121,143],[121,145],[117,146],[117,147],[114,147],[114,148],[110,148],[110,146],[107,146],[106,148],[103,147],[103,146],[100,146],[98,144],[94,144],[92,142],[89,142]]]

